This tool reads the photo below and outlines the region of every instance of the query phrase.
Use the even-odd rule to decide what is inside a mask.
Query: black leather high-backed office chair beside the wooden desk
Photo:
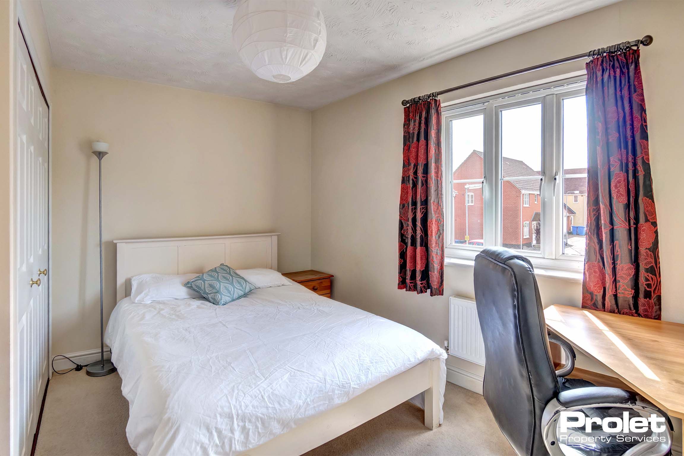
[[[475,302],[486,355],[484,399],[518,455],[670,453],[672,423],[666,414],[633,392],[563,379],[573,371],[575,352],[564,340],[551,337],[568,359],[568,364],[554,370],[534,269],[525,256],[502,247],[482,250],[475,258]],[[591,425],[590,431],[580,427],[561,431],[562,411],[599,419],[622,417],[623,412],[630,417],[655,414],[666,418],[668,426],[637,435],[651,435],[657,442],[622,442],[600,425]],[[569,418],[566,423],[571,423]],[[603,438],[598,442],[588,439],[599,435]]]

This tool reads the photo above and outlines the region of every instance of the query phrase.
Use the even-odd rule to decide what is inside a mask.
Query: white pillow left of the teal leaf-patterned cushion
[[[199,274],[142,274],[131,277],[131,300],[133,302],[148,303],[163,299],[201,298],[202,295],[183,284],[194,279]]]

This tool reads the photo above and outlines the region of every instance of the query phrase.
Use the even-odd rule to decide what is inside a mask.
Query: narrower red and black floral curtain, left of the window
[[[444,294],[442,105],[432,98],[404,108],[399,193],[399,290]]]

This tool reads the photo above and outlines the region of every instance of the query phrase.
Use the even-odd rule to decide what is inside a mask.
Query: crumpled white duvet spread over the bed
[[[235,455],[430,358],[444,400],[443,349],[294,282],[226,306],[122,299],[105,343],[138,455]]]

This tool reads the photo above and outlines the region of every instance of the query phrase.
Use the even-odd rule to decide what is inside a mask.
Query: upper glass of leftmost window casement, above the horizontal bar
[[[482,179],[484,116],[451,120],[451,165],[453,180]]]

